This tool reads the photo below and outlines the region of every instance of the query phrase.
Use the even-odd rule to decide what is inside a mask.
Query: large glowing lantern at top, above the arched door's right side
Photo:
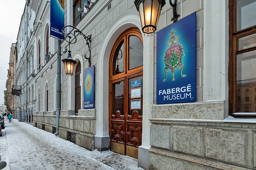
[[[143,33],[154,33],[165,0],[135,0],[134,4],[140,12]]]

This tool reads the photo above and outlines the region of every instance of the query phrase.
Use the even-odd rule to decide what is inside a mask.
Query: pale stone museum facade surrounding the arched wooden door
[[[73,25],[73,1],[65,1],[65,26]],[[88,150],[109,149],[109,57],[111,49],[126,29],[141,30],[134,0],[94,0],[76,28],[92,35],[91,56],[95,66],[94,109],[80,109],[75,115],[75,76],[66,76],[61,64],[61,111],[59,137],[76,134],[76,144]],[[109,4],[111,8],[108,10]],[[46,63],[45,33],[50,25],[50,1],[30,0],[35,11],[34,31],[27,46],[34,56],[28,87],[34,85],[33,125],[53,132],[56,127],[57,40],[49,38],[54,56]],[[156,105],[156,34],[143,37],[143,122],[142,145],[138,162],[144,169],[255,169],[256,124],[225,122],[228,117],[228,0],[178,0],[177,13],[184,18],[196,11],[196,102]],[[157,31],[172,24],[172,8],[166,1]],[[23,22],[22,22],[23,23]],[[21,26],[22,27],[22,26]],[[18,39],[22,37],[19,32]],[[88,68],[88,47],[82,36],[71,44],[74,60],[81,63],[80,86],[84,89],[83,70]],[[33,41],[32,41],[33,40]],[[38,52],[40,42],[39,68]],[[61,42],[61,48],[68,43]],[[24,89],[25,47],[20,47],[17,82]],[[31,49],[31,51],[30,51]],[[61,59],[67,58],[61,52]],[[20,59],[19,59],[20,56]],[[24,57],[23,57],[24,58]],[[52,65],[52,69],[49,66]],[[42,75],[42,76],[41,76]],[[48,90],[48,111],[46,91]],[[82,90],[83,91],[83,90]],[[23,91],[24,92],[24,91]],[[32,94],[30,94],[32,95]],[[24,97],[20,97],[24,109]],[[83,108],[83,93],[81,93]],[[32,101],[32,100],[31,100]]]

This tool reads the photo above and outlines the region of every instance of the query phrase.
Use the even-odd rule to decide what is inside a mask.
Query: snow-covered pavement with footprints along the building
[[[111,151],[88,151],[54,134],[25,122],[4,119],[0,137],[0,156],[4,170],[120,169],[142,170],[138,161]]]

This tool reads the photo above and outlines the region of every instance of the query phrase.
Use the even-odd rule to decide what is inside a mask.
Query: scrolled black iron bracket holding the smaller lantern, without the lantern
[[[67,27],[71,27],[73,29],[69,33],[65,34],[65,28],[67,28]],[[91,37],[92,37],[92,35],[87,35],[86,36],[84,33],[82,33],[82,31],[80,31],[79,29],[77,29],[74,26],[64,26],[62,28],[62,36],[65,39],[65,41],[68,42],[68,47],[69,47],[68,53],[71,53],[70,44],[75,44],[76,43],[77,35],[82,35],[84,37],[84,40],[86,41],[86,45],[88,46],[88,49],[89,49],[89,57],[87,57],[87,55],[85,54],[84,58],[88,60],[89,67],[91,67],[92,63],[91,63],[91,48],[90,48],[90,46],[91,46]]]

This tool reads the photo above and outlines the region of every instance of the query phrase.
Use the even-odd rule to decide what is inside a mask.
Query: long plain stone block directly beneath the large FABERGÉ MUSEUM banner
[[[209,119],[223,120],[225,101],[153,105],[152,119]]]

